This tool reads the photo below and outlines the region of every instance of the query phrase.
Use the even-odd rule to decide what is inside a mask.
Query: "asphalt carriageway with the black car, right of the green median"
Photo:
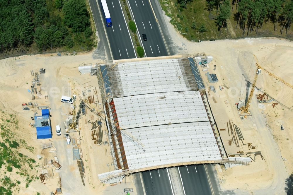
[[[145,56],[168,56],[164,39],[149,0],[129,0],[129,4]],[[142,34],[147,35],[147,41],[142,39]]]

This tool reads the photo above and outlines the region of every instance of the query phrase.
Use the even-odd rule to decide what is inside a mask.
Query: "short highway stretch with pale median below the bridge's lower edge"
[[[212,167],[190,165],[142,173],[147,195],[219,194]]]

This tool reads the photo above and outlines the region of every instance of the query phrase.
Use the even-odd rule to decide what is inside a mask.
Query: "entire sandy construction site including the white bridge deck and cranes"
[[[285,194],[293,82],[290,59],[275,62],[293,55],[276,41],[281,46],[219,45],[234,44],[237,53],[207,46],[208,53],[119,61],[86,63],[91,54],[2,60],[1,110],[28,124],[19,139],[36,148],[39,164],[38,179],[18,194],[141,194],[142,172],[188,165],[213,165],[219,194]],[[174,191],[176,177],[169,178]]]

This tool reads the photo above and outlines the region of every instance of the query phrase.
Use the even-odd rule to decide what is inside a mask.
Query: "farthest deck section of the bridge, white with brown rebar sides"
[[[114,95],[119,97],[197,90],[188,60],[163,59],[108,65]]]

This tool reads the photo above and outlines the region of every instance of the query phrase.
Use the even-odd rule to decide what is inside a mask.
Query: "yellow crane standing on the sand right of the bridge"
[[[270,76],[274,77],[275,79],[281,81],[282,83],[284,83],[285,85],[287,85],[287,86],[289,86],[290,88],[293,89],[293,85],[291,85],[290,83],[284,81],[281,77],[279,77],[279,76],[277,76],[277,75],[271,73],[270,71],[264,69],[263,67],[261,67],[261,66],[259,65],[259,63],[258,63],[258,59],[256,58],[256,56],[255,56],[255,55],[253,55],[253,56],[254,56],[255,59],[256,59],[256,63],[255,63],[255,65],[256,65],[257,69],[256,69],[256,71],[255,71],[255,76],[254,76],[254,80],[253,80],[253,83],[252,83],[252,87],[251,87],[250,94],[249,94],[249,96],[248,96],[247,103],[246,103],[245,106],[242,106],[242,107],[240,108],[240,110],[241,110],[242,112],[245,112],[245,113],[248,113],[248,114],[249,114],[249,112],[248,112],[248,110],[249,110],[249,106],[250,106],[251,99],[252,99],[253,92],[254,92],[254,88],[255,88],[255,83],[256,83],[257,77],[258,77],[258,75],[260,74],[261,70],[265,71],[265,72],[268,73]]]

